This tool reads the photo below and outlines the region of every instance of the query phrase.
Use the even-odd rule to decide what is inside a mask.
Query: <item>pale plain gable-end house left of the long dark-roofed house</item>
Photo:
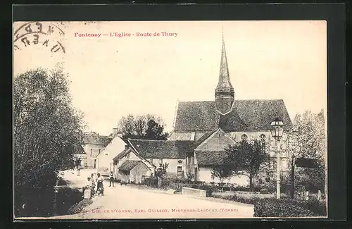
[[[117,128],[113,128],[111,138],[111,142],[96,156],[98,159],[98,172],[103,176],[107,176],[113,171],[113,159],[125,149],[126,145],[126,142],[122,140],[122,134],[118,132]]]

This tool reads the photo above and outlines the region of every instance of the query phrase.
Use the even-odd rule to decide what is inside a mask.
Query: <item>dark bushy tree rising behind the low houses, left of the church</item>
[[[144,116],[123,116],[118,122],[118,131],[125,139],[167,140],[163,120],[160,117],[146,114]]]

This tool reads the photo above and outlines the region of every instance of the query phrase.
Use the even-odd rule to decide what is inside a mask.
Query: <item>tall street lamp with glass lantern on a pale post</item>
[[[284,133],[284,123],[282,122],[279,117],[275,117],[270,124],[270,132],[272,137],[275,138],[277,144],[276,156],[277,156],[277,165],[276,165],[276,199],[280,199],[280,168],[279,168],[279,161],[280,161],[280,140],[282,134]]]

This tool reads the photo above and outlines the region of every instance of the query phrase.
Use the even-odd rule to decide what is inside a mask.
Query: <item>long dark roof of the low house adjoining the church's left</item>
[[[145,159],[184,159],[193,141],[129,140]]]

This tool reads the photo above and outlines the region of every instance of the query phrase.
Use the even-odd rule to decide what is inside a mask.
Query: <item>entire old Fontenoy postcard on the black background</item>
[[[327,217],[326,21],[16,22],[13,71],[16,220]]]

